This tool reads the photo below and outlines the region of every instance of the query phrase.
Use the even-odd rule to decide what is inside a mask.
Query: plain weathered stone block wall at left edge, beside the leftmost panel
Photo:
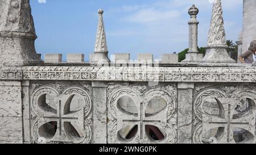
[[[22,87],[18,81],[0,84],[0,143],[22,143]]]

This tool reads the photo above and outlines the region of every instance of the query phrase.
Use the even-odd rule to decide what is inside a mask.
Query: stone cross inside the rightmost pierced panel
[[[215,137],[210,137],[211,143],[236,143],[233,132],[235,129],[245,129],[255,135],[255,112],[234,119],[235,108],[239,100],[233,98],[215,98],[220,108],[220,116],[203,114],[203,135],[210,129],[218,128]]]

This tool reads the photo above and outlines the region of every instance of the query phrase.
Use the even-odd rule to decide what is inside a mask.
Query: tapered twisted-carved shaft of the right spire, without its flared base
[[[210,30],[208,35],[208,45],[226,45],[226,33],[221,1],[213,2],[212,19],[210,20]]]

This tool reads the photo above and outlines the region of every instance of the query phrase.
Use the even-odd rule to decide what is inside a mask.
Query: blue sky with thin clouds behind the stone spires
[[[199,46],[207,45],[213,0],[31,0],[36,34],[36,51],[84,53],[94,50],[98,14],[104,9],[109,55],[180,52],[188,47],[188,9],[200,12]],[[242,0],[222,0],[226,39],[237,40],[242,30]],[[110,57],[110,56],[109,56]]]

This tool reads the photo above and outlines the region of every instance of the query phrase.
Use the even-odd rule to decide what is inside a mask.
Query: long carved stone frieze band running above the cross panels
[[[26,66],[24,79],[78,81],[255,82],[253,67]]]

